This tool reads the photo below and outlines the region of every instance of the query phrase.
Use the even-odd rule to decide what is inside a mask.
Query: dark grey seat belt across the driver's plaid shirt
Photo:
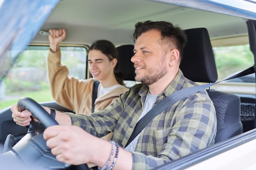
[[[223,81],[229,80],[229,79],[242,77],[242,76],[245,76],[245,75],[249,75],[251,73],[255,73],[254,66],[252,66],[250,68],[247,68],[244,71],[241,71],[241,72],[237,73],[236,75],[228,77],[227,79],[221,80],[220,82],[223,82]],[[210,84],[203,84],[203,85],[199,85],[199,86],[184,88],[180,91],[177,91],[175,93],[172,93],[171,95],[166,96],[158,104],[156,104],[151,110],[149,110],[148,113],[144,117],[142,117],[138,121],[138,123],[136,124],[136,126],[135,126],[135,128],[132,132],[132,135],[128,139],[128,142],[127,142],[126,146],[128,146],[130,144],[130,142],[149,124],[149,122],[155,116],[157,116],[159,113],[164,111],[167,107],[175,104],[176,102],[183,99],[184,97],[187,97],[189,95],[197,93],[197,92],[199,92],[199,91],[201,91],[205,88],[209,88],[210,86],[213,86],[213,85],[218,84],[218,83],[219,82],[214,82],[214,83],[210,83]]]

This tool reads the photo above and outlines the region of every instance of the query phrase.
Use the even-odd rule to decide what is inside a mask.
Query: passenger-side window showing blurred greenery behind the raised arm
[[[36,102],[54,100],[47,77],[49,46],[28,46],[0,82],[0,109],[12,106],[21,97]],[[67,65],[70,75],[85,79],[87,49],[85,46],[62,46],[61,62]]]

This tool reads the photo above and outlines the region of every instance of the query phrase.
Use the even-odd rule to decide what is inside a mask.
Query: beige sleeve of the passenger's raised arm
[[[56,53],[49,50],[47,67],[53,98],[58,104],[76,112],[88,83],[68,76],[68,68],[61,64],[61,50]]]

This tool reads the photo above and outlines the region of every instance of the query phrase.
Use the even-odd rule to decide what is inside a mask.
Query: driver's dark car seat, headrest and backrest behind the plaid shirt
[[[211,41],[207,29],[185,30],[188,42],[180,69],[184,76],[193,82],[213,83],[218,79]],[[242,133],[240,121],[240,98],[231,93],[207,89],[213,101],[217,117],[217,134],[215,143]]]

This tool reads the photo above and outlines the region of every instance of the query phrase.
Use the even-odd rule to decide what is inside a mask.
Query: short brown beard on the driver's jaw
[[[165,56],[162,56],[159,64],[155,66],[154,68],[149,68],[146,73],[144,73],[143,76],[138,77],[136,75],[135,80],[137,82],[141,82],[146,85],[153,84],[157,82],[160,78],[164,77],[167,73],[167,67],[165,64]]]

